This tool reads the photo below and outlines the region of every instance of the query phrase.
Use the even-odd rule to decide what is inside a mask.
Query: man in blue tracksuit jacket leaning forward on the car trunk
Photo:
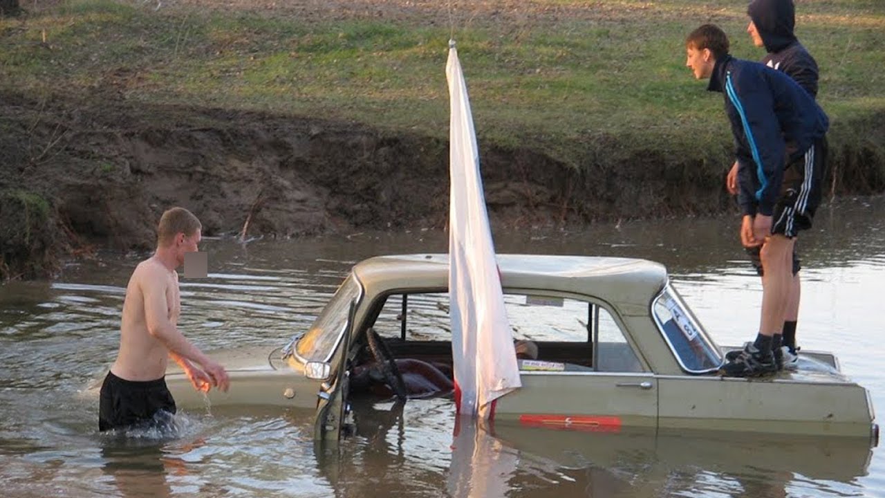
[[[686,66],[720,91],[735,136],[741,241],[761,245],[762,312],[756,340],[723,366],[746,377],[777,370],[773,336],[780,333],[792,281],[793,246],[812,226],[820,202],[829,122],[814,98],[789,76],[733,58],[728,38],[711,24],[686,39]]]

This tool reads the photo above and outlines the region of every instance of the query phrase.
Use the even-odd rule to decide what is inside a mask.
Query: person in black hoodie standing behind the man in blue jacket
[[[793,0],[753,0],[747,6],[750,24],[747,33],[757,47],[765,46],[762,64],[789,75],[812,97],[818,94],[818,64],[802,43],[799,43],[793,30],[796,26],[796,9]],[[728,172],[726,188],[729,193],[737,193],[737,161]],[[759,247],[746,248],[750,261],[759,276],[763,275],[759,260]],[[787,312],[784,316],[782,346],[775,347],[775,360],[779,366],[795,369],[797,366],[796,327],[799,314],[801,263],[796,248],[793,251],[793,281],[789,289]],[[781,344],[781,334],[774,338],[775,346]]]

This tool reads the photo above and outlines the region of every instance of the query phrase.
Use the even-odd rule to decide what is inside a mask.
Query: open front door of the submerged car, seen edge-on
[[[350,310],[347,315],[347,323],[344,324],[342,344],[338,348],[338,364],[333,365],[335,370],[317,393],[317,416],[313,421],[313,440],[335,441],[341,438],[345,420],[350,415],[350,406],[347,402],[348,393],[348,369],[350,357],[350,337],[353,334],[354,315],[356,314],[357,302],[350,302]]]

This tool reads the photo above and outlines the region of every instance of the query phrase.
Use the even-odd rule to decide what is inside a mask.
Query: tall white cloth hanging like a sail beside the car
[[[458,51],[446,64],[449,130],[449,290],[456,406],[488,417],[496,398],[520,386],[513,339],[504,310],[489,213],[482,193],[473,114]]]

